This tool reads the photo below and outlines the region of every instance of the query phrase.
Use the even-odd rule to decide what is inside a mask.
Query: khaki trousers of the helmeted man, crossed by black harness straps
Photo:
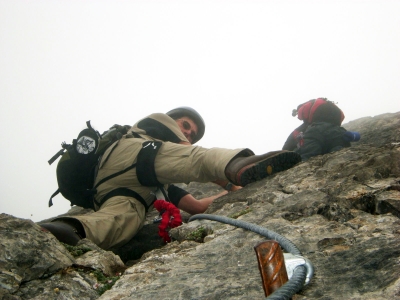
[[[146,140],[148,139],[120,140],[107,161],[103,158],[100,163],[96,182],[134,163],[142,143]],[[157,179],[163,184],[226,179],[226,165],[242,150],[206,149],[164,142],[155,159]],[[107,154],[106,152],[104,157]],[[133,169],[100,185],[96,200],[101,200],[108,192],[120,187],[134,190],[149,205],[154,199],[152,193],[157,189],[140,185],[136,169]],[[96,209],[92,214],[73,218],[82,223],[86,237],[103,249],[127,243],[142,228],[146,215],[144,206],[138,200],[126,196],[112,197]]]

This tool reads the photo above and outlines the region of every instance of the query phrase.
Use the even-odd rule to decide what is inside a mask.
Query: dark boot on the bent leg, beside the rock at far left
[[[75,246],[83,237],[73,225],[55,221],[39,224],[46,232],[52,233],[62,243]]]

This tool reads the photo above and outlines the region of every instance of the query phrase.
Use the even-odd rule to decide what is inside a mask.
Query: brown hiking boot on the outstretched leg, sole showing
[[[235,185],[245,186],[277,172],[290,169],[300,161],[299,154],[285,150],[236,157],[226,166],[225,175]]]

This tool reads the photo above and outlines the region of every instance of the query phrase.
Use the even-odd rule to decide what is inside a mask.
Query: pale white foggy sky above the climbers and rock
[[[400,1],[0,1],[0,212],[40,221],[61,142],[191,106],[203,147],[278,150],[298,104],[400,111]]]

